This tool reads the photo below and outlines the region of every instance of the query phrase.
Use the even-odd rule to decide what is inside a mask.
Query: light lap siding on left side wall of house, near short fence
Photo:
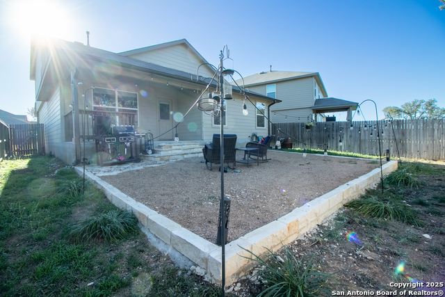
[[[60,88],[56,88],[47,102],[42,103],[38,121],[44,124],[45,145],[51,150],[52,143],[60,143]]]

